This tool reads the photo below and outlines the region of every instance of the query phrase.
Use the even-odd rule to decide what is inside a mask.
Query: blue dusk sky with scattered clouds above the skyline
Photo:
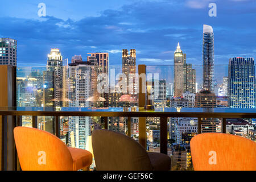
[[[46,17],[38,4],[46,4]],[[217,17],[210,17],[209,3]],[[187,63],[202,64],[203,24],[214,31],[215,64],[256,57],[255,0],[28,0],[2,1],[0,37],[18,40],[18,66],[45,66],[51,48],[63,59],[109,52],[122,64],[122,49],[137,50],[137,64],[173,65],[177,42]]]

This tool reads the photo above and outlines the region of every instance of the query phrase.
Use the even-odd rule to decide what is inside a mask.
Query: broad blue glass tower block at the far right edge
[[[228,105],[234,108],[255,108],[256,86],[253,57],[229,59]]]

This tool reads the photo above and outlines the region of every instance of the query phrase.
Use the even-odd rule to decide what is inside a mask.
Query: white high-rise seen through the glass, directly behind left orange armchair
[[[91,92],[91,66],[88,62],[77,61],[69,64],[68,73],[69,107],[90,107],[87,100]],[[86,139],[91,131],[90,126],[90,117],[69,117],[69,144],[73,140],[75,147],[85,149]]]

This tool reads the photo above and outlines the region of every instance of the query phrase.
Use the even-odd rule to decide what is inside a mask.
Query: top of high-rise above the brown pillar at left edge
[[[17,41],[0,38],[0,65],[17,65]]]

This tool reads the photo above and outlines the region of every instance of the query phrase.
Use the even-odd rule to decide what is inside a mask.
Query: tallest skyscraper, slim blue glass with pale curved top
[[[203,29],[203,89],[214,92],[214,34],[213,28]]]

